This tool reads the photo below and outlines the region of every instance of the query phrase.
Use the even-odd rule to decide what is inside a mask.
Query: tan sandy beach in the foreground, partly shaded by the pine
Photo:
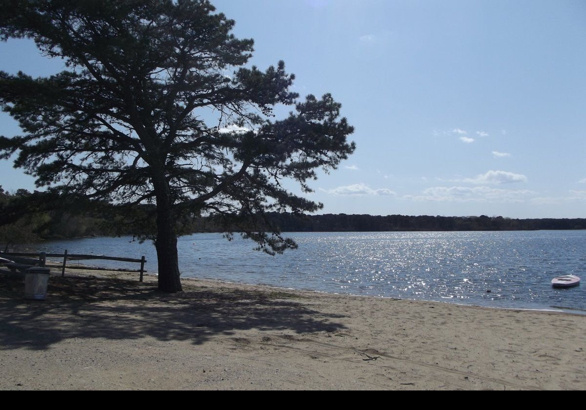
[[[0,389],[586,389],[586,316],[54,274],[0,274]]]

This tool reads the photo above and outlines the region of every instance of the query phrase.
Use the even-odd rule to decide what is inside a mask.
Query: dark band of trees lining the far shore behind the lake
[[[115,206],[84,197],[53,192],[6,192],[0,186],[0,250],[49,239],[131,235],[149,239],[155,233],[156,211],[148,204]],[[186,216],[176,221],[181,234],[239,232],[220,216]],[[282,232],[382,232],[382,231],[517,231],[586,229],[586,218],[512,219],[504,217],[404,216],[404,215],[305,215],[265,213],[250,226],[277,227]],[[246,228],[246,227],[244,227]]]

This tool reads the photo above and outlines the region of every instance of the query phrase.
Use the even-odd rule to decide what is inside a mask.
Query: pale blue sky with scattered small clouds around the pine
[[[331,93],[355,127],[356,152],[310,183],[319,213],[586,217],[586,2],[212,3],[255,40],[251,64],[284,60],[295,91]],[[63,68],[0,43],[0,70]],[[33,181],[0,162],[4,189]]]

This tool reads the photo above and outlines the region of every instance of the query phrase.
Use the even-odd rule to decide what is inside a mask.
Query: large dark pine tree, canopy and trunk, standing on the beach
[[[245,67],[253,40],[205,0],[0,0],[0,39],[30,38],[66,70],[0,71],[0,105],[22,135],[0,155],[38,186],[131,207],[153,204],[159,289],[180,291],[176,237],[186,216],[214,214],[268,252],[295,247],[241,221],[264,211],[312,212],[316,170],[355,149],[330,94],[289,90],[285,64]],[[275,105],[291,105],[275,119]]]

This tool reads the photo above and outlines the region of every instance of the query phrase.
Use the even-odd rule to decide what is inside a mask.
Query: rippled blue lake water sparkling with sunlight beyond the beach
[[[254,243],[221,234],[179,238],[182,276],[388,298],[519,309],[586,312],[586,285],[553,289],[551,278],[586,280],[586,231],[291,233],[299,249],[272,257]],[[40,250],[147,257],[151,242],[132,238],[50,241]],[[88,263],[84,261],[84,263]],[[93,261],[97,266],[137,264]],[[490,291],[490,292],[488,292]]]

